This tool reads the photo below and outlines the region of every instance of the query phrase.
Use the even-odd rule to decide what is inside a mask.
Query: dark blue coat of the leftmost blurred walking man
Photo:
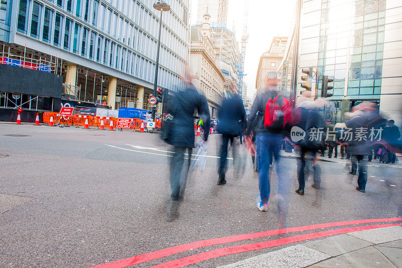
[[[204,122],[203,138],[208,139],[211,116],[207,98],[199,94],[191,84],[186,90],[177,92],[169,103],[168,113],[173,116],[170,145],[194,148],[194,109]]]

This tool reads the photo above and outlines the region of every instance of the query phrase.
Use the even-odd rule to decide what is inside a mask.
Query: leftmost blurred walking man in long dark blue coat
[[[180,174],[184,163],[184,153],[188,151],[188,166],[190,164],[192,148],[194,148],[194,119],[193,114],[196,109],[198,115],[203,119],[203,127],[210,126],[210,110],[207,98],[199,94],[190,81],[185,81],[184,91],[177,92],[172,102],[169,104],[168,113],[173,117],[167,141],[173,147],[173,157],[170,163],[170,189],[172,199],[178,200],[180,195]],[[204,129],[203,139],[207,141],[209,129]],[[183,179],[185,184],[187,170]],[[184,186],[184,185],[183,185]]]

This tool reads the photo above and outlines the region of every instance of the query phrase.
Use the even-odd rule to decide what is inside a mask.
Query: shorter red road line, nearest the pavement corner
[[[259,242],[259,243],[218,248],[215,250],[195,254],[192,256],[167,261],[167,262],[152,266],[151,268],[179,268],[179,267],[184,267],[184,266],[194,264],[194,263],[197,263],[200,261],[204,261],[207,259],[212,259],[212,258],[216,258],[216,257],[220,257],[220,256],[230,255],[230,254],[236,254],[236,253],[241,253],[241,252],[246,252],[246,251],[274,247],[274,246],[279,246],[279,245],[284,245],[284,244],[290,244],[290,243],[294,243],[294,242],[304,241],[304,240],[308,240],[308,239],[315,239],[315,238],[320,238],[320,237],[326,237],[326,236],[331,236],[331,235],[336,235],[336,234],[356,232],[356,231],[361,231],[361,230],[370,230],[370,229],[375,229],[375,228],[384,228],[384,227],[390,227],[390,226],[395,226],[395,225],[401,225],[401,224],[380,224],[380,225],[350,227],[350,228],[322,231],[322,232],[317,232],[317,233],[296,235],[296,236],[291,236],[291,237],[275,239],[275,240],[271,240],[271,241]]]

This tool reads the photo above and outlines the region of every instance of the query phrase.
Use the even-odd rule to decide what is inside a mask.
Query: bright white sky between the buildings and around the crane
[[[208,0],[213,2],[218,0]],[[236,29],[236,40],[240,42],[243,34],[244,3],[245,0],[228,0],[228,22],[227,27]],[[197,17],[198,0],[190,0],[191,4],[191,25],[195,24]],[[289,34],[294,18],[293,13],[296,0],[249,0],[248,7],[248,33],[249,39],[246,48],[246,59],[244,66],[244,82],[247,83],[247,96],[252,97],[255,93],[255,79],[257,75],[258,62],[262,53],[269,49],[272,38],[277,35]]]

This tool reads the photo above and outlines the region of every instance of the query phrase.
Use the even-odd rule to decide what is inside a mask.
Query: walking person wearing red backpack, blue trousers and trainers
[[[245,132],[247,143],[252,143],[251,129],[256,119],[257,112],[263,114],[258,117],[256,136],[256,160],[258,168],[258,182],[260,200],[257,208],[261,211],[268,210],[268,199],[270,194],[269,183],[269,162],[272,155],[275,157],[276,170],[278,175],[278,225],[285,225],[287,213],[287,177],[282,169],[279,149],[284,138],[283,129],[287,121],[289,102],[277,92],[277,80],[267,79],[266,91],[257,95],[251,108]],[[261,120],[262,119],[262,120]]]

